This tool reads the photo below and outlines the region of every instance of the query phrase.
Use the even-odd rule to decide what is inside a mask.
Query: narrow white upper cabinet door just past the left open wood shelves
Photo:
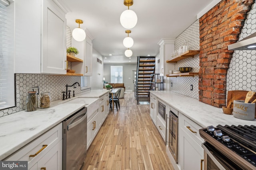
[[[84,76],[92,76],[92,40],[85,39]]]

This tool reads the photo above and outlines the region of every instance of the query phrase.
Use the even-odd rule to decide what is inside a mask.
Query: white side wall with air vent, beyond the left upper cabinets
[[[97,63],[97,58],[102,61],[102,64]],[[95,49],[92,49],[92,90],[103,89],[103,56]]]

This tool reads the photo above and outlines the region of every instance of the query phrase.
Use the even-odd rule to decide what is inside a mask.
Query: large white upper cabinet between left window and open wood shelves
[[[15,1],[15,73],[66,74],[66,11],[55,2]]]

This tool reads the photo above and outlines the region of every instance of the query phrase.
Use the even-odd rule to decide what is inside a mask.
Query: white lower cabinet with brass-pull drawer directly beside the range
[[[204,150],[201,145],[203,139],[199,135],[198,124],[179,113],[179,139],[178,139],[178,164],[181,170],[202,170]],[[202,166],[202,167],[201,167]]]

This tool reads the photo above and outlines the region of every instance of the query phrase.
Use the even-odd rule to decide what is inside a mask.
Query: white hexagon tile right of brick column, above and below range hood
[[[239,41],[256,32],[256,2],[244,21]],[[235,50],[227,72],[226,95],[230,90],[256,91],[256,51]]]

